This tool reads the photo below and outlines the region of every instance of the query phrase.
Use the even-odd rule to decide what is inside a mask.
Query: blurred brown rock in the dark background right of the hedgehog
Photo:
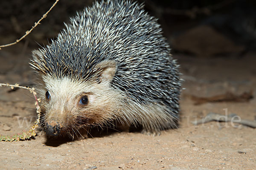
[[[198,57],[214,57],[220,54],[239,54],[244,46],[235,45],[210,26],[198,26],[175,38],[173,49]]]

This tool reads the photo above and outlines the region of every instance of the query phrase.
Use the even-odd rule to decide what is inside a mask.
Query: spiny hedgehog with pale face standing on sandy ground
[[[178,126],[180,66],[143,8],[130,0],[95,2],[32,51],[47,136],[94,127],[158,134]]]

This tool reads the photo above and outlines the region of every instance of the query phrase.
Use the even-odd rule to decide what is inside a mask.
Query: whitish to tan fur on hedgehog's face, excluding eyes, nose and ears
[[[43,100],[45,121],[58,122],[67,127],[76,123],[76,117],[90,119],[93,123],[102,124],[114,119],[114,112],[120,108],[122,95],[110,87],[109,81],[78,82],[68,77],[43,79],[42,98],[48,91],[50,99]],[[88,104],[81,105],[82,96],[88,97]]]

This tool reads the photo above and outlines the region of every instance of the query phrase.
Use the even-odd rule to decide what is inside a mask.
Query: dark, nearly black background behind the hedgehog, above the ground
[[[94,0],[60,0],[41,25],[20,42],[29,48],[48,44],[69,17]],[[52,6],[54,0],[2,0],[0,44],[25,34]],[[159,18],[172,53],[193,57],[242,57],[256,48],[255,0],[139,0]],[[38,44],[37,44],[38,43]],[[209,49],[211,47],[211,49]],[[15,48],[15,46],[12,46]]]

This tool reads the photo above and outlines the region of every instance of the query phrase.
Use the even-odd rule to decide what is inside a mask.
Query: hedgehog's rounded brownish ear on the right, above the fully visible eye
[[[102,79],[111,81],[116,74],[116,62],[113,60],[102,61],[95,67],[102,70],[99,73],[102,76]]]

